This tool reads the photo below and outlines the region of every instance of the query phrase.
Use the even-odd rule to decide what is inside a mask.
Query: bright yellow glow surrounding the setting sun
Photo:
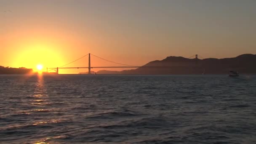
[[[12,45],[12,47],[18,49],[13,53],[12,64],[10,64],[12,67],[26,67],[33,69],[34,72],[44,72],[46,67],[58,67],[64,63],[62,60],[64,54],[60,51],[64,44],[54,41],[58,38],[51,37],[53,40],[50,41],[46,36],[37,37],[35,35],[34,37],[27,36],[23,41],[18,41]],[[42,68],[38,65],[42,65]]]

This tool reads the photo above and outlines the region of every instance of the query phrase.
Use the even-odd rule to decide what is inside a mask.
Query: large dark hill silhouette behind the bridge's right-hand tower
[[[124,70],[122,74],[227,74],[229,70],[239,73],[256,73],[256,55],[242,54],[235,58],[224,59],[187,59],[181,56],[168,56],[161,61],[151,61],[133,70]]]

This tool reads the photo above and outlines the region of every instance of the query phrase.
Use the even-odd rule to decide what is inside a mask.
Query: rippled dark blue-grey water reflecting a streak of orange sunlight
[[[256,75],[0,75],[2,144],[256,144]]]

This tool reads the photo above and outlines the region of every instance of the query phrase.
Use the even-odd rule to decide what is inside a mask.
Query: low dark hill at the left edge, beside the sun
[[[28,74],[32,72],[33,69],[27,69],[25,67],[12,68],[0,66],[0,74]]]

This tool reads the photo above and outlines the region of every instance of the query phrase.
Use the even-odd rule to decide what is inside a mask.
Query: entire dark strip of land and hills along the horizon
[[[242,54],[234,58],[223,59],[188,59],[181,56],[168,56],[163,60],[150,61],[149,63],[123,71],[99,70],[90,71],[92,75],[226,75],[229,71],[236,71],[242,75],[256,74],[255,54]],[[89,71],[89,70],[88,70]],[[43,75],[88,75],[88,72],[76,74],[58,74],[56,72],[43,72]],[[0,66],[0,75],[26,75],[35,74],[33,69],[24,67],[11,68]]]

